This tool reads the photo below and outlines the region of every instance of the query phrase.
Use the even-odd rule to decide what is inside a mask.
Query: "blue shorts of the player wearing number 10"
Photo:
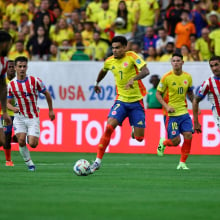
[[[188,113],[180,116],[166,116],[165,127],[169,139],[183,132],[193,132],[192,120]]]

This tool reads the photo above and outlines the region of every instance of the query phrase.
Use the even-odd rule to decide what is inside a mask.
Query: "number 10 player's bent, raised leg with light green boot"
[[[160,138],[159,145],[157,147],[158,156],[163,156],[166,146],[178,146],[181,141],[179,131],[179,117],[166,116],[165,127],[167,130],[168,138]]]

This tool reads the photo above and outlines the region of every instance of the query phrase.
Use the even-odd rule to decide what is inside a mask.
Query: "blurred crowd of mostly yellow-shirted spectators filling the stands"
[[[146,61],[220,56],[218,0],[0,0],[0,28],[9,59],[103,61],[117,35]]]

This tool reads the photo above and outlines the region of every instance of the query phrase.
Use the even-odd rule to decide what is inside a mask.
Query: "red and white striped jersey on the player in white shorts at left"
[[[38,92],[45,91],[46,87],[42,80],[34,76],[27,76],[25,80],[14,78],[8,84],[8,98],[15,98],[20,113],[28,118],[39,117]]]

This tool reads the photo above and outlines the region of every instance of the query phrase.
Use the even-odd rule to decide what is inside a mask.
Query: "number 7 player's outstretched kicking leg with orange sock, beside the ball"
[[[108,115],[107,126],[99,141],[97,156],[95,162],[90,166],[90,173],[94,173],[95,170],[99,169],[102,158],[105,154],[105,150],[109,145],[111,135],[114,132],[115,128],[119,124],[122,124],[125,117],[126,117],[126,109],[124,103],[120,101],[116,101],[112,106],[110,113]]]

